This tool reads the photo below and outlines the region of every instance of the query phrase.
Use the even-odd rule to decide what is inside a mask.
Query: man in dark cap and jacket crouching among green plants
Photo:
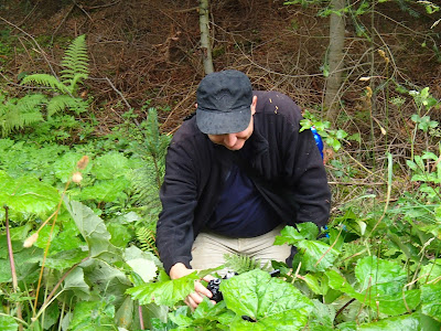
[[[299,131],[300,108],[230,70],[201,81],[196,107],[166,153],[157,226],[165,271],[181,278],[223,265],[228,253],[287,260],[291,247],[272,245],[276,235],[301,222],[324,226],[331,203],[314,137]],[[185,302],[195,308],[211,295],[196,282]]]

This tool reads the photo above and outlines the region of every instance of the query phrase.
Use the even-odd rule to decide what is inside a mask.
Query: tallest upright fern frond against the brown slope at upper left
[[[63,82],[74,82],[77,74],[84,75],[85,78],[87,77],[89,70],[86,36],[84,34],[72,42],[61,64],[64,66],[61,72]]]

